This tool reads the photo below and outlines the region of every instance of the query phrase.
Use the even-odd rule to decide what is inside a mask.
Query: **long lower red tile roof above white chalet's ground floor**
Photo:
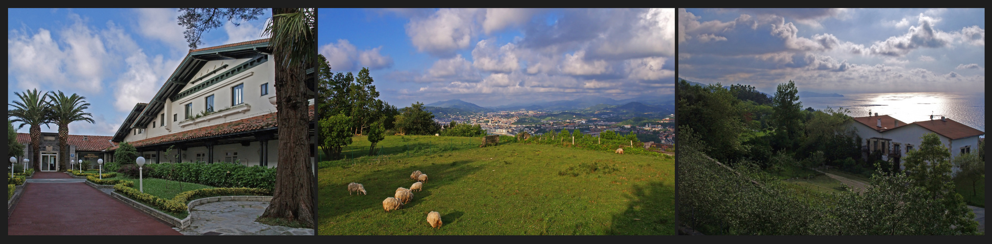
[[[236,121],[231,121],[222,124],[211,125],[202,128],[196,128],[184,132],[173,133],[169,135],[157,136],[149,139],[139,140],[131,142],[131,146],[141,147],[147,145],[155,145],[168,142],[191,140],[196,138],[210,137],[210,136],[220,136],[229,135],[245,131],[260,130],[266,128],[276,127],[276,113],[267,113],[264,115],[259,115],[251,118],[244,118]],[[313,105],[310,105],[310,119],[313,119]],[[117,147],[113,147],[110,150],[117,150]]]

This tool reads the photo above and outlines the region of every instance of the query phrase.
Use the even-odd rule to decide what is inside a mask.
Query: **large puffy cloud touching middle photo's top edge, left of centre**
[[[457,50],[468,48],[477,32],[477,9],[440,9],[423,19],[407,24],[407,36],[419,52],[449,58]]]

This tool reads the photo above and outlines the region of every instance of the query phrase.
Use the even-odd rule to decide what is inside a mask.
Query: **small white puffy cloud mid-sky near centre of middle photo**
[[[514,54],[515,45],[506,44],[497,49],[493,42],[482,40],[475,44],[475,49],[472,50],[473,66],[493,72],[511,72],[520,68],[520,62]]]

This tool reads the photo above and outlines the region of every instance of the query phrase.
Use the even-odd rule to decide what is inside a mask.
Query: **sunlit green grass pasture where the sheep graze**
[[[404,141],[406,140],[406,141]],[[456,146],[452,142],[474,140]],[[479,138],[388,136],[381,147],[412,142],[433,151],[320,163],[321,235],[671,235],[675,234],[675,164],[665,157],[616,155]],[[446,144],[445,144],[446,142]],[[367,154],[368,142],[355,139]],[[432,150],[432,149],[428,149]],[[347,152],[347,151],[346,151]],[[409,155],[408,155],[409,154]],[[402,209],[382,200],[410,187],[413,171],[430,178]],[[348,183],[368,194],[348,194]],[[443,226],[432,229],[430,211]]]

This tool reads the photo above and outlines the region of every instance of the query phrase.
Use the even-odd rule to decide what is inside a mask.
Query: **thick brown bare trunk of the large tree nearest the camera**
[[[273,8],[272,15],[297,9]],[[273,24],[274,26],[278,26]],[[275,47],[278,49],[278,47]],[[261,217],[283,218],[313,225],[313,171],[310,167],[310,137],[307,85],[302,65],[287,68],[279,50],[276,66],[276,115],[279,126],[279,166],[272,202]]]

